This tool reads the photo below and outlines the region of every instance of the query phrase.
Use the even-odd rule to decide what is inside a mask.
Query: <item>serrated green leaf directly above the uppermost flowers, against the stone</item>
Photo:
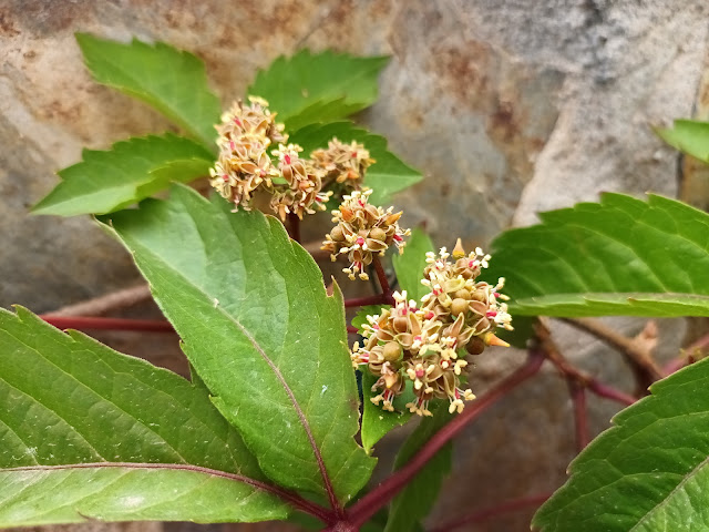
[[[287,130],[343,119],[377,100],[377,78],[388,61],[301,50],[259,71],[248,93],[268,100]]]

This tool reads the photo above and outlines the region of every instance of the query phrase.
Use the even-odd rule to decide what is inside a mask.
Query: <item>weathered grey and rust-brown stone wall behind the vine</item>
[[[0,0],[0,305],[48,311],[140,279],[127,255],[88,218],[29,217],[54,172],[129,135],[172,129],[158,114],[95,84],[74,31],[162,40],[204,59],[224,104],[257,68],[301,47],[391,54],[381,99],[361,122],[427,178],[397,198],[434,241],[485,244],[535,213],[595,201],[602,191],[681,195],[709,205],[707,173],[665,147],[650,125],[709,112],[709,7],[701,0]],[[703,78],[702,78],[703,76]],[[125,315],[155,316],[151,305]],[[612,320],[637,332],[641,323]],[[682,323],[660,324],[676,352]],[[594,375],[630,389],[619,357],[555,327],[562,348]],[[169,335],[95,335],[184,371]],[[483,357],[483,391],[523,358]],[[617,410],[590,400],[592,431]],[[378,451],[386,468],[407,430]],[[574,456],[565,383],[551,370],[459,438],[455,467],[430,524],[551,491]],[[475,530],[527,530],[532,511]],[[72,530],[187,531],[187,524]],[[290,530],[282,524],[213,530]],[[62,529],[66,530],[66,529]],[[202,529],[199,529],[202,530]],[[472,530],[472,529],[469,529]]]

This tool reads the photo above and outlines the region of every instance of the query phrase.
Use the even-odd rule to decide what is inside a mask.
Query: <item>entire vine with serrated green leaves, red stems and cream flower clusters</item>
[[[185,136],[85,151],[34,207],[94,215],[150,288],[41,317],[0,310],[1,526],[289,519],[420,530],[450,470],[451,440],[547,362],[568,382],[583,452],[533,526],[709,530],[709,362],[678,371],[709,337],[662,368],[651,323],[629,339],[590,318],[709,316],[707,214],[656,195],[605,194],[503,233],[492,257],[460,241],[436,253],[381,206],[421,174],[345,120],[376,100],[386,58],[280,58],[222,113],[195,57],[162,43],[78,41],[99,82],[153,105]],[[708,131],[678,122],[659,133],[707,161]],[[167,188],[167,200],[150,197]],[[301,221],[326,209],[325,242],[300,243]],[[316,260],[327,256],[345,260],[346,283],[371,276],[378,293],[343,299],[337,280],[326,288]],[[167,321],[99,316],[151,295]],[[351,325],[346,308],[358,309]],[[618,349],[638,391],[574,367],[543,316]],[[72,328],[174,328],[192,379]],[[526,348],[527,361],[475,398],[467,371],[487,346],[508,345],[501,337]],[[584,450],[587,392],[630,407]],[[374,446],[414,416],[394,471],[366,490]],[[547,498],[531,493],[435,530]]]

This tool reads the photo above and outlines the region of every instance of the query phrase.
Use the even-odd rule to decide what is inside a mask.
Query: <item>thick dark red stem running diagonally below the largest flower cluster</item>
[[[354,526],[364,524],[380,509],[386,507],[445,443],[499,399],[534,376],[542,367],[542,362],[544,362],[544,357],[536,351],[531,351],[524,366],[467,406],[463,413],[458,415],[451,422],[439,430],[407,466],[382,481],[352,505],[348,511],[349,522]]]

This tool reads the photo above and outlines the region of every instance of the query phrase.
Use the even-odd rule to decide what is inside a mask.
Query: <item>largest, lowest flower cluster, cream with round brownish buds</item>
[[[371,400],[393,411],[393,400],[411,381],[415,400],[407,403],[411,412],[431,416],[432,399],[449,399],[450,412],[461,412],[464,400],[474,399],[463,388],[467,355],[480,355],[486,346],[507,344],[493,332],[495,327],[512,329],[511,317],[500,294],[504,279],[495,286],[476,282],[487,266],[489,255],[480,248],[465,255],[459,245],[449,260],[445,248],[439,256],[428,254],[422,283],[430,287],[420,304],[407,300],[407,293],[394,294],[395,305],[378,316],[368,316],[363,326],[364,345],[354,344],[354,367],[366,365],[378,377]]]

